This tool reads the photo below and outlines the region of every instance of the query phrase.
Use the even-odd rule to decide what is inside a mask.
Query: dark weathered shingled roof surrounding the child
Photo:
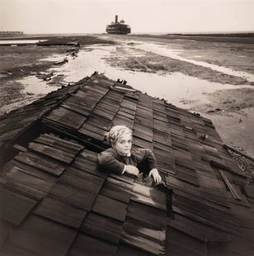
[[[114,125],[163,184],[99,170]],[[1,255],[252,255],[254,189],[208,119],[93,75],[0,120]]]

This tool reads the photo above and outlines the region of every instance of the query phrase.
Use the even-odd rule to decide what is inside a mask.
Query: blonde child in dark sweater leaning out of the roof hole
[[[124,174],[129,173],[138,176],[139,169],[152,177],[159,184],[162,178],[158,173],[157,160],[150,149],[131,149],[132,131],[127,126],[114,126],[106,134],[106,140],[110,149],[98,154],[98,163],[101,168]]]

